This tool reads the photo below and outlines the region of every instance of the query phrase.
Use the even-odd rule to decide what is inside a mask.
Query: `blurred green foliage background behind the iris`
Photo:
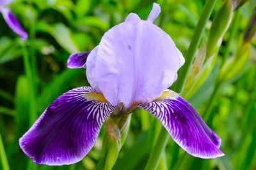
[[[0,132],[10,169],[95,168],[100,159],[104,127],[92,151],[72,166],[33,164],[20,150],[19,138],[56,97],[75,87],[89,85],[85,69],[67,69],[70,53],[92,50],[104,32],[124,22],[130,12],[138,13],[145,20],[154,2],[159,3],[162,9],[154,23],[166,31],[186,55],[204,0],[17,0],[10,8],[29,33],[26,43],[20,41],[0,16]],[[221,2],[218,0],[214,7],[204,40]],[[230,55],[236,52],[237,42],[255,4],[254,0],[248,1],[239,10],[239,28]],[[223,38],[214,70],[189,99],[200,114],[207,107],[229,36],[230,29]],[[32,87],[28,76],[24,76],[22,56],[26,54],[31,60]],[[208,125],[222,139],[221,150],[226,156],[198,159],[179,149],[170,139],[158,169],[256,169],[255,61],[254,40],[246,68],[221,87],[212,110],[214,117]],[[156,118],[146,111],[136,111],[132,115],[128,138],[113,169],[143,169],[160,128]],[[0,152],[3,153],[3,148]]]

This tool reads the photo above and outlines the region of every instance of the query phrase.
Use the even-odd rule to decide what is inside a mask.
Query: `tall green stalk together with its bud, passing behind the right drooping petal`
[[[218,50],[220,48],[222,38],[232,20],[235,8],[234,6],[232,6],[230,0],[223,1],[220,10],[218,11],[216,17],[212,22],[209,38],[206,45],[205,57],[200,57],[201,60],[206,59],[206,61],[204,62],[205,64],[204,66],[201,66],[200,64],[196,63],[199,66],[200,71],[191,72],[195,74],[192,76],[194,78],[191,78],[190,81],[186,82],[189,76],[189,71],[191,69],[192,62],[195,59],[196,49],[198,48],[202,38],[202,32],[204,31],[205,24],[209,19],[209,15],[211,15],[211,11],[215,2],[216,1],[207,1],[205,3],[205,7],[202,12],[202,15],[200,16],[200,20],[196,25],[196,30],[193,35],[191,45],[189,46],[186,62],[182,69],[180,70],[179,75],[181,76],[178,78],[177,83],[175,83],[174,89],[177,92],[183,92],[181,95],[185,99],[189,99],[191,96],[193,96],[193,94],[195,94],[195,92],[202,86],[204,81],[211,73],[212,68],[216,61],[216,57],[218,55]],[[205,10],[208,10],[208,13]],[[200,29],[199,27],[202,27],[202,29]],[[204,50],[202,51],[204,52]],[[196,62],[199,61],[199,63],[201,63],[202,61],[200,61],[200,59],[196,60]],[[161,132],[157,139],[157,144],[154,146],[154,149],[152,150],[152,153],[148,160],[148,164],[146,166],[147,170],[156,169],[157,164],[161,157],[161,153],[163,152],[164,147],[166,146],[166,139],[168,139],[167,132],[164,131],[164,129],[161,129]]]

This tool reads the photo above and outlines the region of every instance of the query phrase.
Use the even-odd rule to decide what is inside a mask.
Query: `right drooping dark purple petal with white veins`
[[[179,94],[168,90],[160,99],[139,104],[156,117],[173,140],[189,154],[203,159],[221,157],[221,139],[213,132],[195,109]]]

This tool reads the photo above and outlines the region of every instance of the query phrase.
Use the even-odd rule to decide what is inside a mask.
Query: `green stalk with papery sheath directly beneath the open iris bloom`
[[[103,139],[102,158],[96,169],[112,169],[127,138],[131,114],[125,117],[109,117]]]

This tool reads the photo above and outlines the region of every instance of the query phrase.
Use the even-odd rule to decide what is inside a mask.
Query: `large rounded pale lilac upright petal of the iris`
[[[144,20],[124,22],[102,37],[94,80],[109,103],[128,108],[161,96],[177,79],[181,64],[184,58],[166,32]]]

